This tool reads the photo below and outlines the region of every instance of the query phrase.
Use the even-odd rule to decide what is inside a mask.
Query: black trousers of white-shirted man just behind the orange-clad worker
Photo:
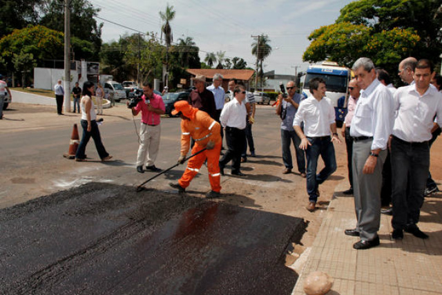
[[[227,151],[220,160],[220,168],[224,169],[224,166],[231,160],[231,172],[238,173],[240,172],[242,149],[244,149],[246,142],[245,129],[227,126],[224,131],[226,133]]]

